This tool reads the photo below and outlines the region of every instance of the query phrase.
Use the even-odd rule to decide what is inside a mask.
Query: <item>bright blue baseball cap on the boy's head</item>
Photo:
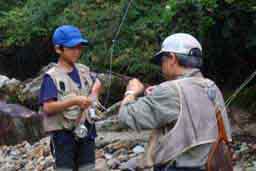
[[[62,25],[58,27],[53,33],[52,42],[54,45],[70,48],[79,44],[88,44],[88,40],[82,36],[80,30],[72,25]]]

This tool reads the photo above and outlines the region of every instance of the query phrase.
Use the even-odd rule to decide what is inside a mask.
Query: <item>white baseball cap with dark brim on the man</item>
[[[196,50],[195,50],[196,49]],[[195,50],[194,52],[192,50]],[[202,56],[202,46],[199,41],[186,33],[176,33],[168,36],[162,43],[161,50],[153,57],[153,62],[159,64],[166,53],[177,53],[185,56]]]

